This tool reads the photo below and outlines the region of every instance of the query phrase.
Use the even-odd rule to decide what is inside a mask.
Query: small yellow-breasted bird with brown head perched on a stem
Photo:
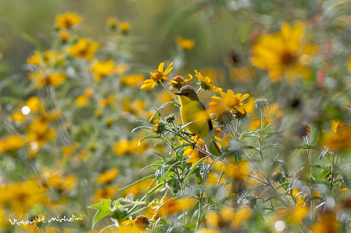
[[[192,133],[193,136],[197,136],[205,141],[207,135],[213,129],[212,120],[210,115],[206,111],[206,107],[203,103],[200,102],[199,97],[196,93],[196,90],[190,86],[185,85],[180,89],[179,92],[174,93],[179,96],[180,100],[180,117],[183,124],[191,123],[186,127],[186,129]],[[213,145],[218,151],[219,154],[222,153],[221,149],[217,145],[213,136],[210,137],[213,139]],[[206,143],[206,150],[208,151],[208,144],[211,140],[208,140]]]

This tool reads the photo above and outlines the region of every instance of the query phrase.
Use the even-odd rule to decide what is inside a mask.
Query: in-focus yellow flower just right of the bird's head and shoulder
[[[241,114],[245,114],[245,109],[251,108],[249,104],[241,103],[247,97],[250,96],[249,94],[244,94],[244,95],[241,95],[241,93],[234,94],[234,92],[230,89],[227,91],[227,93],[224,91],[220,91],[220,94],[223,98],[220,98],[218,96],[212,96],[211,98],[219,101],[219,104],[224,105],[229,111],[234,111],[235,109],[239,111]],[[218,102],[211,102],[210,106],[211,105],[218,105]]]

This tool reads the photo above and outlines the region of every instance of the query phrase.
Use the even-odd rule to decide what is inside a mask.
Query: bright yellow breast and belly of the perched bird
[[[196,136],[201,133],[200,138],[204,140],[210,133],[210,127],[208,126],[208,116],[202,109],[200,102],[180,96],[180,105],[180,116],[183,124],[195,121],[188,125],[186,129]]]

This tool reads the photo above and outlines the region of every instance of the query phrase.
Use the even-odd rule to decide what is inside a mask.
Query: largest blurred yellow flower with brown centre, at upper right
[[[311,56],[317,52],[317,47],[305,45],[303,34],[301,23],[292,28],[284,23],[279,33],[260,37],[253,47],[253,65],[267,69],[273,82],[284,76],[289,82],[298,77],[310,78],[308,65],[311,63]]]

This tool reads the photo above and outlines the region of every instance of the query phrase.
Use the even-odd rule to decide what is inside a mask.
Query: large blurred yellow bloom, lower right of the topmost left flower
[[[91,42],[90,40],[88,40],[86,38],[81,38],[77,42],[77,44],[73,45],[69,49],[69,53],[72,54],[73,56],[76,56],[79,58],[85,58],[87,60],[92,60],[93,55],[98,48],[99,48],[98,42]]]

